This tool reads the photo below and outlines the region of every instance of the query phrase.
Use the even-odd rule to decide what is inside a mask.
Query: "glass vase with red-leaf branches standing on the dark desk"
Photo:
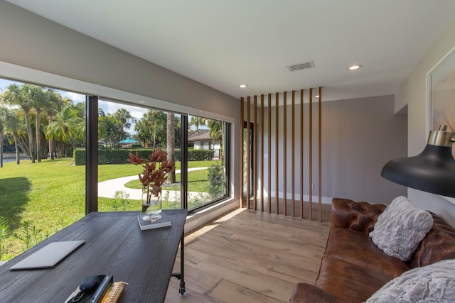
[[[166,153],[161,148],[155,148],[149,158],[141,158],[139,153],[129,153],[128,162],[141,165],[144,170],[139,173],[142,184],[142,212],[146,214],[144,221],[157,221],[161,219],[162,186],[170,172],[176,169],[172,161],[166,160]]]

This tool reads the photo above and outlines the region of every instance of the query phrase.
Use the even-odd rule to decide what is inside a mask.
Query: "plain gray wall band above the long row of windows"
[[[239,113],[237,99],[192,79],[3,0],[0,11],[0,61],[225,116]]]

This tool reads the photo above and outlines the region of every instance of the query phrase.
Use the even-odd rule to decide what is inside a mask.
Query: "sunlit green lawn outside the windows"
[[[208,167],[213,162],[194,161],[188,167]],[[7,162],[0,168],[0,260],[14,258],[85,216],[85,166],[72,163],[63,158],[34,164]],[[141,167],[131,164],[98,166],[99,181],[139,172]],[[189,191],[207,191],[206,170],[189,172],[188,181]],[[100,211],[141,209],[134,200],[99,198],[98,204]]]

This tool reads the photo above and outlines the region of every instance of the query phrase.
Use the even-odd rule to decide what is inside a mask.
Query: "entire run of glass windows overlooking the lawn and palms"
[[[0,88],[0,260],[82,218],[89,204],[141,210],[141,167],[127,162],[139,150],[161,148],[176,164],[164,209],[197,211],[229,195],[229,123],[3,79]]]

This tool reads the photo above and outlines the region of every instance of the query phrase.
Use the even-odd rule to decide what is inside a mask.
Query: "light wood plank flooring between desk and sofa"
[[[165,302],[289,302],[297,282],[314,284],[326,248],[331,206],[322,205],[319,222],[313,205],[312,221],[244,208],[189,233],[186,297],[171,277]]]

